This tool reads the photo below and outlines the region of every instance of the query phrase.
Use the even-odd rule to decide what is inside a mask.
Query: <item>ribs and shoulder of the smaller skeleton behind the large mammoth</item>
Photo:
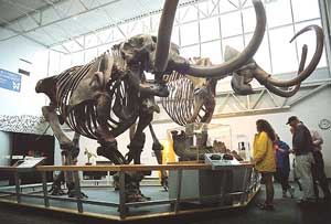
[[[210,58],[194,58],[201,66],[211,66]],[[216,78],[199,78],[189,74],[172,72],[166,78],[169,96],[161,104],[180,126],[191,122],[210,122],[215,109]]]

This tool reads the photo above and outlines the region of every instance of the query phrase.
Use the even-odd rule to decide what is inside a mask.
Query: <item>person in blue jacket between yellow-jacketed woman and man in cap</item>
[[[277,169],[275,179],[281,184],[282,198],[287,198],[287,191],[291,198],[295,198],[295,189],[288,183],[290,162],[289,162],[289,146],[281,141],[279,136],[276,135],[276,161]]]

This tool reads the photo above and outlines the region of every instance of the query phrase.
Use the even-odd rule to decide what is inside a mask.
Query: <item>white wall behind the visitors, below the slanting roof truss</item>
[[[321,119],[327,118],[331,120],[331,88],[324,88],[316,95],[307,98],[306,100],[292,106],[285,113],[265,114],[256,116],[244,116],[233,118],[215,119],[213,122],[222,122],[231,125],[233,135],[233,146],[236,146],[236,136],[244,134],[252,141],[256,132],[255,121],[257,119],[267,119],[270,121],[276,132],[280,138],[291,146],[291,134],[289,127],[286,125],[287,118],[291,115],[298,116],[305,125],[310,129],[316,129],[322,136],[323,143],[323,157],[325,163],[325,171],[328,178],[331,178],[331,129],[321,130],[318,124]]]

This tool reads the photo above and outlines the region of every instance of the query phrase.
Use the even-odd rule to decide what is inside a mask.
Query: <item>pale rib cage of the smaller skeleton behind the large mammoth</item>
[[[161,98],[161,104],[171,117],[180,126],[185,126],[193,115],[194,109],[194,86],[183,74],[172,72],[167,79],[169,96]],[[202,106],[195,122],[200,122],[205,111]]]

